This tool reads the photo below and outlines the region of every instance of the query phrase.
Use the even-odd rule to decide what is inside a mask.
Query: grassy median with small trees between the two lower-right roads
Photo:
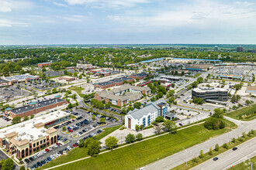
[[[248,134],[243,134],[242,137],[240,138],[233,138],[233,140],[231,141],[231,143],[226,143],[223,144],[222,146],[217,145],[215,148],[209,148],[209,152],[205,153],[205,154],[200,154],[199,157],[197,158],[193,158],[192,160],[190,160],[189,162],[187,162],[187,165],[184,163],[182,165],[178,165],[175,168],[172,168],[173,170],[185,170],[185,169],[190,169],[196,165],[202,164],[202,162],[206,162],[211,158],[216,157],[217,155],[220,155],[221,153],[223,153],[224,151],[227,151],[230,148],[234,148],[237,145],[242,144],[244,141],[248,141],[251,138],[254,138],[256,136],[256,131],[250,131]]]

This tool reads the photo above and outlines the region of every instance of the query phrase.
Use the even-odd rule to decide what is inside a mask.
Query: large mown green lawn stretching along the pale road
[[[157,159],[165,158],[173,155],[182,148],[189,148],[193,145],[202,143],[203,141],[213,138],[214,136],[223,134],[229,129],[221,129],[218,131],[208,131],[203,124],[195,125],[178,131],[177,134],[165,134],[157,138],[142,141],[134,145],[119,148],[96,157],[88,158],[80,162],[74,162],[55,169],[135,169],[147,165]],[[85,157],[85,148],[83,157]],[[72,153],[74,155],[74,153]],[[77,157],[77,155],[74,155]],[[67,162],[59,161],[58,164]],[[72,157],[68,161],[74,160]],[[54,164],[57,165],[57,164]],[[43,168],[53,166],[52,163]]]

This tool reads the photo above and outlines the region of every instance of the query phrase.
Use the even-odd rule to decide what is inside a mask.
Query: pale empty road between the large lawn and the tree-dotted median
[[[231,120],[231,118],[229,118]],[[211,138],[208,141],[205,141],[199,145],[192,146],[191,148],[186,148],[186,151],[179,151],[175,155],[168,156],[166,158],[163,158],[157,162],[153,162],[149,165],[144,166],[144,168],[147,169],[171,169],[175,168],[178,165],[184,164],[186,161],[191,160],[194,157],[199,156],[199,151],[202,150],[204,153],[209,151],[209,148],[214,148],[216,144],[223,145],[224,143],[230,142],[231,138],[237,138],[238,136],[241,136],[243,132],[251,131],[251,129],[256,129],[256,119],[253,121],[237,121],[234,120],[234,122],[237,123],[238,128],[230,131],[226,134],[221,134],[220,136],[217,136],[216,138]]]

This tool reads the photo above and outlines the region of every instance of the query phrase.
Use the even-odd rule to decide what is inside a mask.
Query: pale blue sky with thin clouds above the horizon
[[[0,0],[0,45],[256,44],[255,30],[255,0]]]

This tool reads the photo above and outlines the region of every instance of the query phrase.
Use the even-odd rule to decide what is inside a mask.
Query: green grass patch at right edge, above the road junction
[[[256,117],[256,104],[228,112],[225,115],[237,120],[251,121]]]

